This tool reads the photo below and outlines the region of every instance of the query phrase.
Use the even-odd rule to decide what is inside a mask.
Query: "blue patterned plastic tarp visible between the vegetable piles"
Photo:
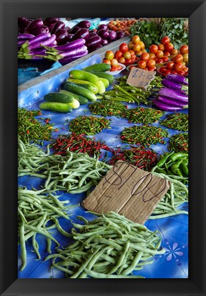
[[[90,59],[86,60],[82,64],[79,64],[75,67],[75,69],[83,69],[83,67],[88,66],[90,64],[95,64],[101,62],[101,58],[98,54],[95,54]],[[18,93],[18,106],[24,107],[27,109],[37,110],[39,103],[42,101],[43,96],[51,91],[57,91],[60,89],[62,83],[68,77],[68,72],[71,69],[64,71],[63,73],[48,79],[47,82],[42,82],[37,86],[33,86],[32,88],[23,91],[22,93]],[[128,108],[136,108],[138,105],[136,103],[127,104]],[[142,106],[142,105],[141,105]],[[146,107],[146,106],[142,106]],[[183,112],[187,112],[184,110]],[[168,114],[172,114],[172,112],[166,112],[161,119],[166,118]],[[77,110],[73,110],[68,114],[62,114],[57,112],[43,111],[42,115],[37,116],[37,118],[49,118],[51,119],[50,123],[55,123],[55,127],[57,127],[58,131],[53,132],[53,138],[57,138],[59,134],[68,134],[68,125],[72,119],[75,119],[79,115],[93,115],[90,113],[88,109],[88,105],[80,106]],[[94,116],[94,115],[93,115]],[[98,116],[98,115],[96,115]],[[133,123],[128,123],[127,119],[120,119],[116,116],[107,116],[107,119],[111,120],[111,129],[104,129],[101,133],[96,134],[94,137],[96,140],[103,140],[109,147],[123,147],[125,143],[120,140],[120,132]],[[160,126],[159,121],[157,123],[153,123],[153,125]],[[158,154],[164,153],[164,151],[168,151],[168,141],[170,136],[173,134],[178,134],[177,130],[171,130],[161,125],[163,129],[168,130],[169,136],[166,138],[166,144],[157,144],[152,145],[151,148],[154,149]],[[42,149],[46,149],[46,145],[48,143],[44,143]],[[109,155],[108,155],[109,156]],[[18,184],[22,186],[26,186],[27,188],[31,188],[32,186],[36,189],[40,189],[43,186],[44,181],[40,180],[37,177],[19,177]],[[57,193],[59,195],[59,193]],[[62,197],[60,200],[69,200],[70,205],[78,205],[72,210],[68,211],[72,216],[70,217],[72,221],[76,223],[82,223],[76,219],[77,216],[86,217],[86,219],[92,220],[94,219],[94,214],[90,214],[87,212],[82,206],[83,199],[86,198],[86,193],[81,194],[69,194],[65,192],[60,192]],[[188,210],[188,204],[183,204],[181,206],[182,210]],[[60,219],[60,225],[64,228],[64,230],[70,232],[72,228],[72,224],[70,221],[66,221],[66,219]],[[155,260],[153,264],[149,264],[144,266],[144,268],[140,271],[135,271],[133,274],[142,275],[146,278],[187,278],[188,277],[188,215],[179,214],[173,217],[168,217],[165,219],[155,219],[148,220],[145,223],[146,227],[149,230],[158,230],[159,235],[162,236],[162,247],[166,249],[166,253],[161,256],[155,256]],[[70,238],[65,238],[57,232],[57,230],[52,230],[51,233],[60,241],[61,247],[66,247],[70,243]],[[36,236],[37,241],[40,245],[40,255],[41,260],[36,260],[36,254],[34,253],[32,248],[31,240],[27,243],[27,266],[24,271],[18,271],[19,278],[62,278],[65,277],[64,272],[59,271],[57,269],[50,269],[51,260],[46,262],[42,262],[44,258],[48,255],[47,247],[45,239],[38,234]],[[21,257],[20,250],[18,250],[18,267],[21,266]],[[52,245],[52,251],[55,252],[55,244]]]

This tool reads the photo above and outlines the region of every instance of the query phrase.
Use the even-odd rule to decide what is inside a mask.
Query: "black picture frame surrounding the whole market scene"
[[[188,17],[189,277],[149,280],[17,279],[17,18]],[[1,295],[206,295],[205,1],[1,1]]]

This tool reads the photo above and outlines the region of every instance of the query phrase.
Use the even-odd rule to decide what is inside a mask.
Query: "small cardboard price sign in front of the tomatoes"
[[[133,67],[127,78],[127,84],[136,86],[137,88],[146,89],[151,81],[154,79],[155,71],[146,71],[136,67]]]

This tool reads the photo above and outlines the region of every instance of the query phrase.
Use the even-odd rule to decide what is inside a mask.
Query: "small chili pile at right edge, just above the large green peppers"
[[[175,134],[170,138],[168,150],[188,152],[188,134]]]

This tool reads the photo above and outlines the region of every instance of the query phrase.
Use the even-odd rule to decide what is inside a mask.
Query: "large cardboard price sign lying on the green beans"
[[[144,224],[164,197],[170,182],[119,160],[83,201],[92,212],[110,210]]]

